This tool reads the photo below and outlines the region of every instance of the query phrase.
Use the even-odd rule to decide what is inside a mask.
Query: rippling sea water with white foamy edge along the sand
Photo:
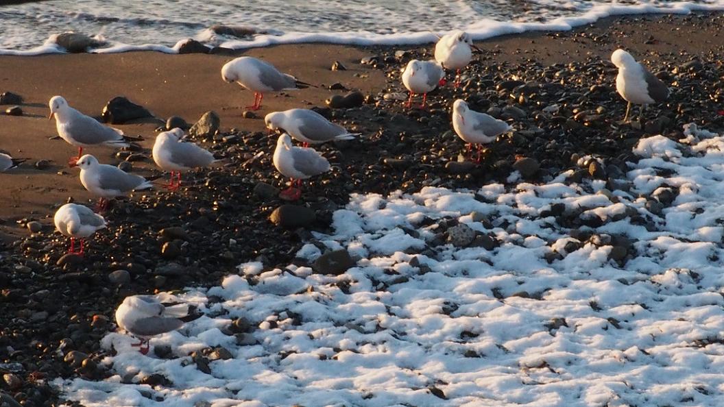
[[[61,52],[52,38],[66,31],[109,43],[94,52],[173,53],[187,38],[234,49],[294,42],[414,44],[453,29],[484,39],[570,30],[617,14],[721,9],[724,0],[54,0],[0,6],[0,54]],[[262,34],[219,35],[209,30],[217,24]]]

